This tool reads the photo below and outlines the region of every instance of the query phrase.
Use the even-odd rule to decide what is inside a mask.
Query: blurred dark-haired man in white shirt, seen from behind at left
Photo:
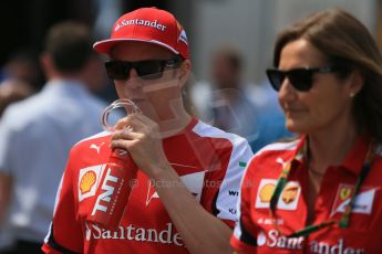
[[[69,150],[102,130],[106,105],[90,93],[94,75],[103,72],[94,57],[87,27],[53,25],[41,55],[48,83],[1,118],[0,219],[14,239],[9,253],[41,253]]]

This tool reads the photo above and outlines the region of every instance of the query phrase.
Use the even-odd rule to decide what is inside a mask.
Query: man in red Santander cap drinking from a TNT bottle
[[[110,56],[105,66],[120,98],[142,114],[72,148],[43,251],[230,253],[240,179],[252,152],[245,139],[185,110],[182,89],[192,63],[182,25],[166,11],[142,8],[122,15],[111,39],[94,49]],[[103,155],[116,148],[130,152],[138,173],[118,227],[106,230],[85,218]],[[84,177],[90,171],[95,179]]]

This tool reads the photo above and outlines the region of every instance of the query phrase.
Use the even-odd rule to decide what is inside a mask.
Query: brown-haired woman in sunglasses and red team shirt
[[[299,134],[257,152],[241,183],[238,253],[382,253],[382,56],[329,9],[282,31],[267,70]]]

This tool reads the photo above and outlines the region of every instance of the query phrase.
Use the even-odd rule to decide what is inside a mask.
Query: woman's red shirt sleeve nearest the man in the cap
[[[241,181],[241,188],[239,193],[239,201],[237,203],[237,220],[235,224],[234,234],[230,239],[231,246],[242,253],[256,253],[257,229],[251,221],[250,208],[251,208],[251,188],[254,186],[251,180],[251,171],[254,169],[254,160],[246,169],[246,173]]]

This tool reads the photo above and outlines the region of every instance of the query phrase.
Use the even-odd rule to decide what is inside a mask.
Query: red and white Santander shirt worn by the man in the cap
[[[142,172],[116,231],[85,222],[93,209],[97,180],[110,155],[110,134],[79,142],[58,192],[47,253],[187,253],[153,182]],[[184,131],[163,140],[172,167],[200,204],[234,226],[239,184],[252,152],[248,142],[194,119]],[[90,174],[96,176],[91,180]],[[172,182],[156,182],[172,187]]]

